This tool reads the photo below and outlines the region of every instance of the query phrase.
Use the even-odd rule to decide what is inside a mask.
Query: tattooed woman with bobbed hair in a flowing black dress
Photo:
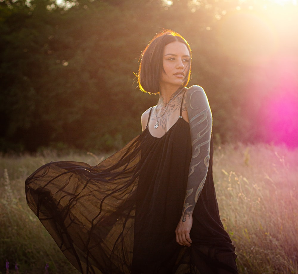
[[[44,165],[27,202],[81,273],[237,273],[212,178],[212,115],[204,90],[186,88],[191,50],[176,32],[142,53],[138,83],[158,93],[143,132],[90,166]]]

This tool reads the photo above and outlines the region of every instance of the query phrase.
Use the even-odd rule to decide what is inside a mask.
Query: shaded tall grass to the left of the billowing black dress
[[[6,259],[10,273],[15,262],[19,273],[45,273],[47,263],[49,273],[78,273],[31,212],[25,197],[25,179],[46,162],[59,160],[95,165],[103,157],[78,153],[63,156],[47,150],[36,156],[0,157],[0,273],[6,273]]]

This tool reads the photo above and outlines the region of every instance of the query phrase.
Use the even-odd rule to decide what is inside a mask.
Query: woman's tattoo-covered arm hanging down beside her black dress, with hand
[[[190,246],[192,214],[204,187],[209,165],[212,114],[207,96],[199,86],[187,90],[186,109],[190,124],[192,159],[190,162],[183,212],[176,228],[176,241]]]

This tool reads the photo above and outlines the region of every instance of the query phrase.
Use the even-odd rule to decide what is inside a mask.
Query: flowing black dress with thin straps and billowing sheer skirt
[[[237,273],[235,247],[218,213],[212,140],[207,179],[193,212],[192,246],[176,243],[191,155],[183,118],[161,138],[147,125],[96,166],[42,166],[26,180],[27,202],[81,273]]]

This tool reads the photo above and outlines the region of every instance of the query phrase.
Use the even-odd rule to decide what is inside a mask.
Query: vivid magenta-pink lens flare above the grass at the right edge
[[[298,145],[298,80],[297,61],[293,56],[280,57],[271,67],[267,67],[268,78],[272,85],[262,90],[255,86],[252,93],[261,102],[257,126],[262,129],[266,142]]]

